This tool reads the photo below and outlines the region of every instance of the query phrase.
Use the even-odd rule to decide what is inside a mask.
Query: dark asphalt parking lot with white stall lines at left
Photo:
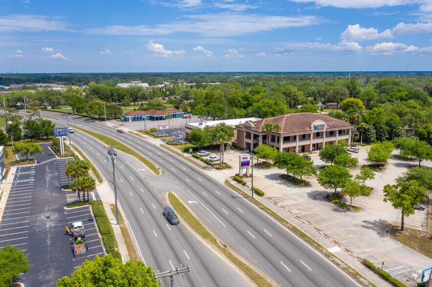
[[[66,183],[61,170],[67,159],[50,156],[47,145],[44,151],[44,155],[35,156],[45,159],[45,163],[18,166],[15,174],[11,174],[14,180],[0,220],[0,247],[20,248],[28,253],[29,263],[34,265],[21,275],[20,281],[26,287],[55,286],[59,278],[70,276],[85,259],[105,254],[89,207],[64,209],[68,197],[61,190]],[[76,221],[82,221],[86,229],[89,247],[86,257],[73,257],[71,237],[65,233],[65,226]]]

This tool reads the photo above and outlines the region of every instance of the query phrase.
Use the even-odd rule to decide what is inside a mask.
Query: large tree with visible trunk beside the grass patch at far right
[[[404,229],[404,218],[414,214],[414,205],[418,205],[424,198],[426,188],[421,187],[416,180],[399,181],[397,184],[384,186],[384,201],[391,202],[394,208],[401,209],[401,231]]]

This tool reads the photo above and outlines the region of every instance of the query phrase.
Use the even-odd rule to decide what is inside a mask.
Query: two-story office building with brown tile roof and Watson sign
[[[235,126],[237,141],[234,144],[245,150],[251,150],[261,143],[267,143],[267,133],[263,129],[266,123],[281,126],[281,130],[273,130],[270,136],[270,145],[275,146],[279,151],[313,152],[339,140],[351,144],[352,124],[313,113],[288,114],[238,124]]]

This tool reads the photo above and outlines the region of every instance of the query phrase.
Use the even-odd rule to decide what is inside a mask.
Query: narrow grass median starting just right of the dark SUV
[[[177,213],[182,219],[192,227],[208,244],[213,246],[219,252],[225,255],[225,257],[241,269],[256,285],[258,286],[272,286],[263,276],[252,269],[249,265],[241,261],[239,258],[234,256],[227,248],[224,248],[218,244],[216,238],[197,220],[197,218],[182,204],[177,196],[170,192],[168,193],[168,200],[173,205]]]

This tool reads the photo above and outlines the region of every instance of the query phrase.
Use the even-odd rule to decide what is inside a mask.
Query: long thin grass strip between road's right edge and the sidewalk
[[[323,254],[325,257],[330,259],[334,264],[341,267],[343,270],[345,270],[348,274],[350,274],[352,277],[354,277],[357,281],[359,281],[362,285],[367,287],[374,287],[375,285],[370,282],[367,278],[365,278],[361,273],[357,272],[354,268],[346,264],[344,261],[342,261],[339,257],[335,256],[333,253],[328,251],[324,246],[320,245],[317,241],[315,241],[312,237],[309,237],[306,233],[298,229],[296,226],[289,223],[285,218],[274,212],[271,208],[267,207],[266,205],[262,204],[261,202],[257,201],[254,198],[251,198],[249,194],[244,192],[242,189],[238,188],[234,184],[231,184],[228,180],[225,181],[225,184],[229,187],[231,187],[233,190],[235,190],[240,195],[244,196],[246,199],[248,199],[250,202],[252,202],[254,205],[256,205],[258,208],[264,210],[267,214],[272,216],[275,220],[277,220],[280,224],[284,225],[294,233],[296,233],[297,236],[301,237],[304,241],[309,243],[311,246],[314,246],[321,254]]]

